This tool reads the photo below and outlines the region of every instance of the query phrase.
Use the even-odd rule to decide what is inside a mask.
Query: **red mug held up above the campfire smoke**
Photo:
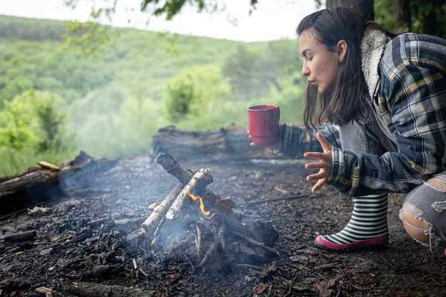
[[[279,105],[248,108],[249,135],[254,145],[272,145],[279,140]]]

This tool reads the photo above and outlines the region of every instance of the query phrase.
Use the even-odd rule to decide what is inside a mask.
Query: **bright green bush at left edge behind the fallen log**
[[[0,110],[0,173],[23,170],[36,155],[66,155],[71,142],[64,126],[65,116],[48,93],[27,91],[6,102]]]

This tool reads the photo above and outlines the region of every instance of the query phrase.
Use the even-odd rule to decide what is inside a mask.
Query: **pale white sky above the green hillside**
[[[118,0],[111,25],[236,41],[269,41],[296,38],[299,21],[318,10],[314,0],[259,0],[256,10],[249,16],[249,2],[224,0],[224,11],[214,14],[198,14],[196,9],[187,6],[172,21],[165,21],[162,17],[150,16],[149,19],[149,14],[141,13],[140,0]],[[79,0],[76,9],[63,3],[63,0],[0,0],[0,14],[33,19],[88,20],[91,0]]]

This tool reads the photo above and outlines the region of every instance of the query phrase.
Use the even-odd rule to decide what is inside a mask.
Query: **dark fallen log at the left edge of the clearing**
[[[39,162],[26,172],[0,178],[0,214],[10,214],[43,201],[58,199],[76,189],[88,189],[95,176],[114,167],[117,160],[95,159],[81,153],[61,166]]]

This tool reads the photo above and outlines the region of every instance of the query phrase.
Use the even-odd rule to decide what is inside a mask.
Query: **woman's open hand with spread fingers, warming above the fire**
[[[331,169],[331,146],[328,144],[325,137],[321,133],[316,133],[316,138],[318,142],[321,142],[323,152],[306,152],[304,157],[309,159],[318,160],[319,162],[306,163],[306,169],[318,168],[319,172],[316,174],[311,174],[306,177],[306,180],[311,181],[318,179],[318,182],[314,184],[311,192],[316,192],[317,189],[326,184],[328,175],[330,175]]]

